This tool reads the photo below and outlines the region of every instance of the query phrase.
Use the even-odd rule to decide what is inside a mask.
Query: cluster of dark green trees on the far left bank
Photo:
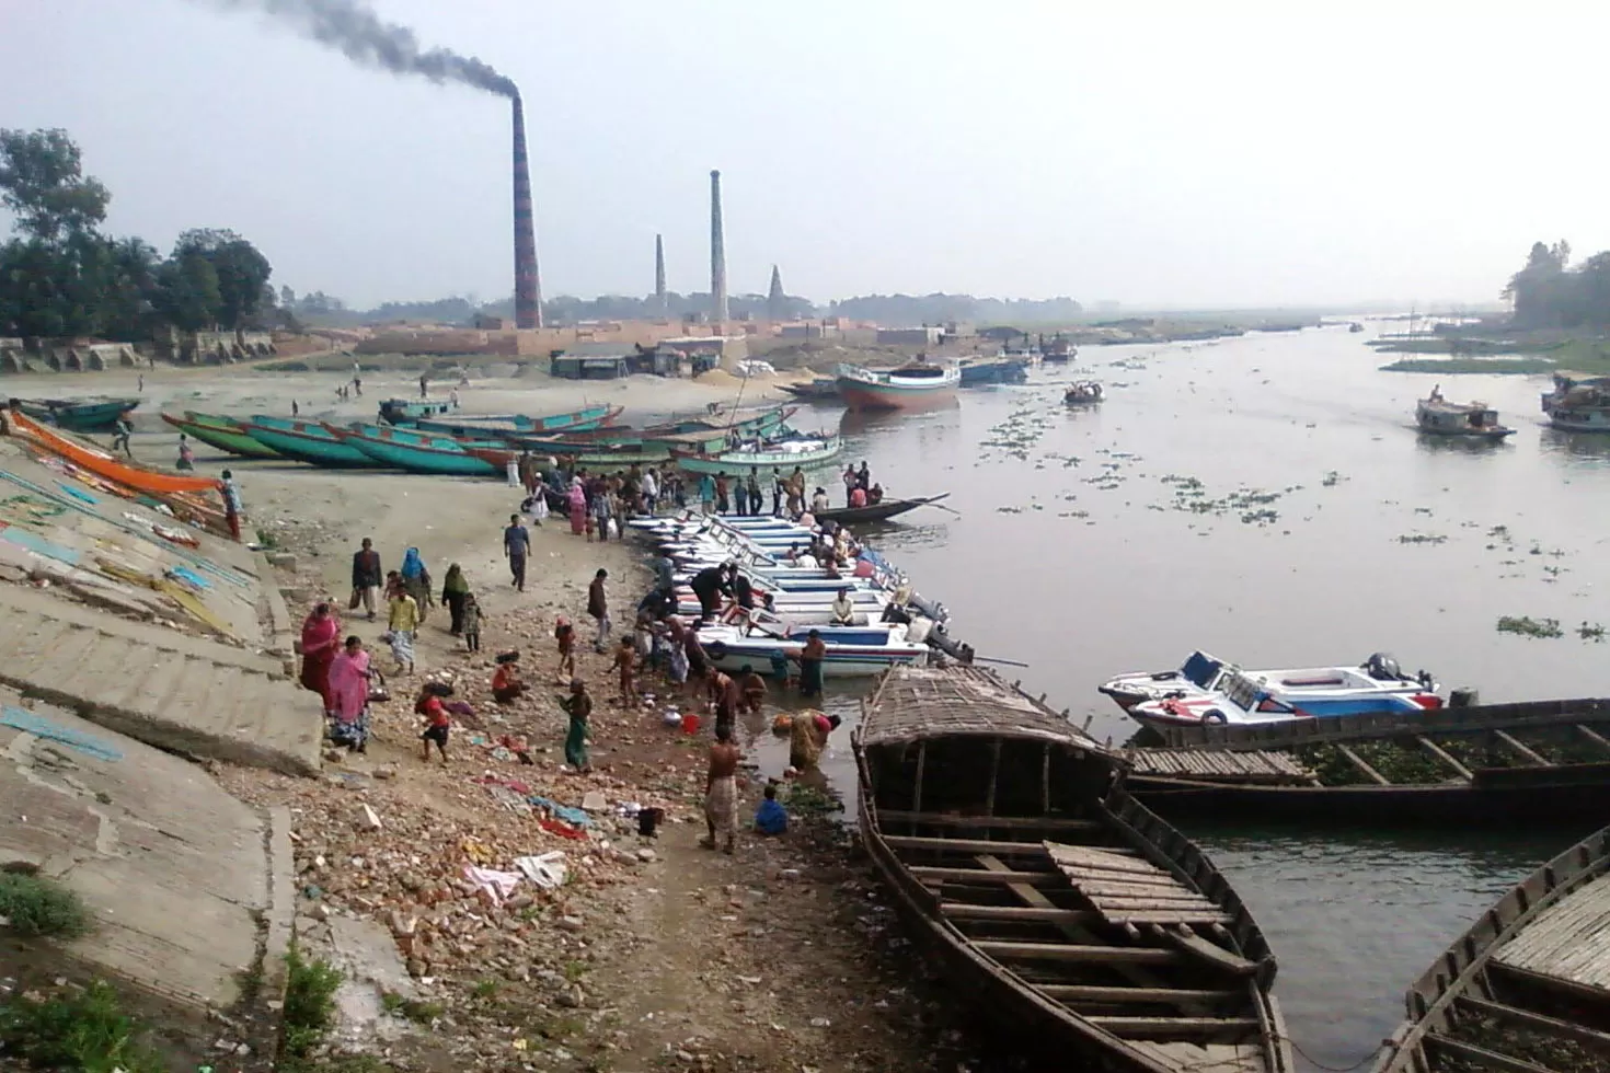
[[[163,257],[101,232],[109,201],[66,130],[0,130],[0,204],[16,217],[0,245],[0,335],[140,341],[166,327],[267,327],[277,314],[274,269],[250,241],[195,228]]]

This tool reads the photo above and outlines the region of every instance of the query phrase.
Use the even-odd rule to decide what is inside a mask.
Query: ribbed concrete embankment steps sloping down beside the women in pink
[[[158,748],[316,774],[317,695],[282,661],[0,587],[0,682]]]

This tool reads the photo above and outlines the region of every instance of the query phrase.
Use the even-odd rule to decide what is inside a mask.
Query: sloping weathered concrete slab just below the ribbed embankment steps
[[[27,703],[0,689],[0,711]],[[270,911],[266,817],[72,713],[32,703],[24,721],[0,726],[0,862],[39,865],[95,912],[71,957],[187,1007],[233,1005]]]

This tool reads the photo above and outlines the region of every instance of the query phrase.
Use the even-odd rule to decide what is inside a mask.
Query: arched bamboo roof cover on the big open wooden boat
[[[863,745],[979,735],[1100,748],[1067,719],[982,668],[890,668],[866,700],[865,713]]]

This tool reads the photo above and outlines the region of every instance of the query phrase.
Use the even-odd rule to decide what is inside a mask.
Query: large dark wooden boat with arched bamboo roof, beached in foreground
[[[913,933],[1056,1068],[1294,1068],[1251,914],[1066,717],[977,668],[897,668],[855,759],[861,838]]]

